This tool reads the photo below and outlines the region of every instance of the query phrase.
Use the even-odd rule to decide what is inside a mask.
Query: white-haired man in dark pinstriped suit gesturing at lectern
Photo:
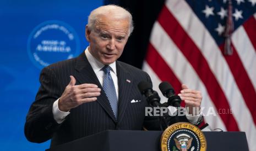
[[[26,117],[29,141],[52,139],[56,146],[105,130],[157,130],[158,121],[145,117],[147,102],[137,88],[142,80],[151,83],[149,75],[117,61],[132,31],[132,15],[121,7],[106,5],[91,12],[89,47],[74,59],[42,69],[41,86]],[[187,106],[200,107],[200,92],[183,88],[180,95]],[[181,119],[197,124],[199,117]]]

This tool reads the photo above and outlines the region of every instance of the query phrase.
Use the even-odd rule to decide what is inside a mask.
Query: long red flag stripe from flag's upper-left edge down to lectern
[[[219,83],[217,82],[214,74],[211,72],[207,61],[200,53],[198,47],[189,38],[187,33],[183,31],[183,28],[179,26],[175,18],[172,17],[170,11],[164,7],[161,13],[162,14],[160,14],[158,21],[165,29],[166,33],[171,37],[173,42],[175,42],[179,50],[181,50],[183,55],[188,59],[190,65],[193,66],[200,79],[204,82],[210,97],[212,100],[216,100],[214,102],[216,108],[230,108],[224,92],[221,90]],[[184,43],[184,41],[186,41],[186,43]],[[227,125],[228,131],[239,131],[237,124],[235,124],[236,120],[233,118],[232,114],[221,114],[220,116],[225,123],[234,123],[232,125]]]

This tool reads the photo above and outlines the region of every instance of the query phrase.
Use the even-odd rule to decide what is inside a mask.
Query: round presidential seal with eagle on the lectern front
[[[162,151],[204,151],[206,150],[206,139],[201,130],[190,123],[173,124],[162,133]]]

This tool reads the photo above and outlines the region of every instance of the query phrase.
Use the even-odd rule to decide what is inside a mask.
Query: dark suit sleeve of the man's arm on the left
[[[41,86],[35,102],[26,116],[24,132],[30,142],[41,143],[50,140],[61,124],[53,118],[52,106],[62,94],[62,89],[53,71],[46,67],[40,74]]]

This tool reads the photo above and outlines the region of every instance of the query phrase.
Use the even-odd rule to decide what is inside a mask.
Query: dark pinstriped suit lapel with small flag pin
[[[132,88],[132,77],[125,70],[125,67],[117,61],[117,78],[118,78],[118,122],[121,122],[123,115],[126,111],[127,104],[129,102],[130,88]]]

